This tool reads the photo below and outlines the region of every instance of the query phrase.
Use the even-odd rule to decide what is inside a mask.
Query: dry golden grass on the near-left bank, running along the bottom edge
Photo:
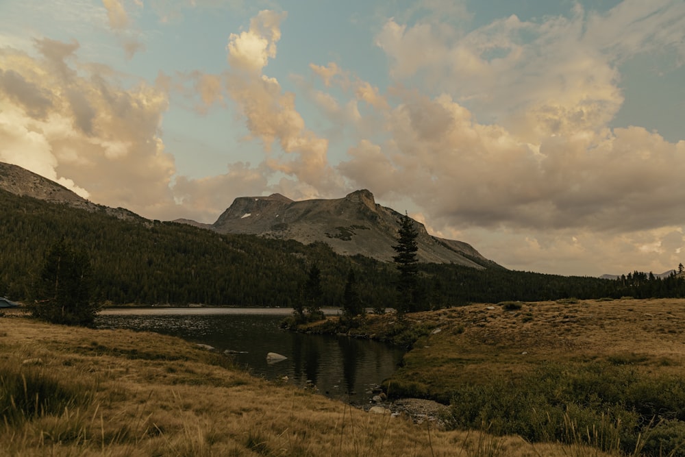
[[[606,455],[369,414],[169,336],[20,317],[0,317],[0,414],[10,456]]]

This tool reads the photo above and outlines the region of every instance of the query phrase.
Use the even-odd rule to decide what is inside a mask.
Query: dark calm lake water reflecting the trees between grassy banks
[[[337,310],[325,310],[336,314]],[[371,389],[393,374],[403,349],[346,336],[305,335],[279,329],[288,308],[138,308],[103,310],[99,328],[146,330],[210,345],[234,354],[239,365],[268,380],[288,377],[299,386],[347,402],[371,399]],[[287,357],[269,364],[266,354]]]

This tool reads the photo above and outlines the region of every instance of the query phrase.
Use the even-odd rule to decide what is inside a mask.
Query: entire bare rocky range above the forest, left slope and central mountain
[[[20,196],[63,203],[119,219],[145,220],[125,208],[109,208],[79,197],[66,187],[21,166],[0,162],[0,188]],[[283,195],[238,197],[213,224],[189,219],[174,222],[195,225],[222,234],[254,234],[265,238],[323,242],[338,254],[361,254],[384,262],[393,260],[401,214],[375,203],[369,190],[357,190],[341,199],[293,201]],[[413,220],[413,219],[412,219]],[[414,221],[421,262],[458,264],[475,269],[502,269],[471,245],[428,234]]]

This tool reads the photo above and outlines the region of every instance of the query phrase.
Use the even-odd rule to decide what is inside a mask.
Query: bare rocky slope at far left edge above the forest
[[[119,219],[142,219],[125,208],[110,208],[92,203],[54,181],[21,166],[0,162],[0,189],[20,197],[33,197],[50,203],[63,203],[90,212],[105,212]]]

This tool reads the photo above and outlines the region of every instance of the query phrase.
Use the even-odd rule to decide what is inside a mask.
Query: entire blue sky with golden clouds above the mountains
[[[0,0],[0,161],[149,219],[377,203],[509,269],[685,262],[683,0]]]

